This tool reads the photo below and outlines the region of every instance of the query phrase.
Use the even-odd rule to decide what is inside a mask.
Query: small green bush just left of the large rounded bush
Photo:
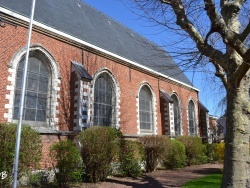
[[[55,178],[59,187],[67,187],[69,182],[81,182],[83,170],[80,151],[70,140],[62,140],[50,148],[50,156],[55,168]]]

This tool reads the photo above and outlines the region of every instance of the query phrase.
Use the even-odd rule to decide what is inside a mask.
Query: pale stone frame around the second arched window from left
[[[96,79],[101,75],[101,74],[108,74],[109,77],[111,78],[111,81],[112,81],[112,84],[113,84],[113,87],[114,87],[114,92],[115,92],[115,123],[114,123],[114,128],[116,129],[119,129],[120,128],[120,95],[121,95],[121,92],[120,92],[120,86],[119,86],[119,83],[115,77],[115,75],[108,69],[108,68],[101,68],[99,69],[93,76],[93,80],[91,81],[90,83],[90,87],[92,88],[92,91],[91,91],[91,102],[90,102],[90,111],[91,111],[91,121],[90,121],[90,127],[94,126],[94,96],[95,96],[95,81]]]

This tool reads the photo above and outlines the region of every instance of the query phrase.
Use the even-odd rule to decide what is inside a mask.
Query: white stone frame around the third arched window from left
[[[148,87],[150,92],[151,92],[151,102],[152,102],[152,127],[150,130],[144,130],[141,129],[140,127],[140,91],[142,89],[142,87]],[[136,106],[137,106],[137,134],[138,135],[157,135],[157,111],[156,111],[156,95],[154,90],[152,89],[152,87],[150,86],[150,84],[148,82],[143,82],[142,84],[140,84],[138,91],[137,91],[137,96],[136,96]]]

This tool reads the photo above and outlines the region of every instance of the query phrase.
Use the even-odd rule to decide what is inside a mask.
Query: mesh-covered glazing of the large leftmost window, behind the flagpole
[[[24,71],[24,59],[17,68],[14,119],[19,119],[20,95],[22,77]],[[25,100],[23,106],[23,120],[45,122],[48,103],[50,74],[47,67],[36,57],[29,58],[27,80],[25,88]]]

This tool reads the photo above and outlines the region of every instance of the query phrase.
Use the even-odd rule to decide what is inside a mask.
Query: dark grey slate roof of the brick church
[[[0,7],[30,17],[32,0],[0,0]],[[38,0],[35,21],[193,87],[165,50],[81,0]]]

